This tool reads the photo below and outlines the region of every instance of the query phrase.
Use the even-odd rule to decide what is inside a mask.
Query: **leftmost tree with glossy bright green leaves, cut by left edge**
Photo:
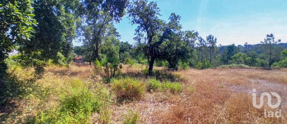
[[[16,46],[28,42],[34,32],[32,0],[1,0],[0,2],[0,88],[5,88],[3,76],[7,65],[4,59]],[[2,89],[1,89],[2,91]]]

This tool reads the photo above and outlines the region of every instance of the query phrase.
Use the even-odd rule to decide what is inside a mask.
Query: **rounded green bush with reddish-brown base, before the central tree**
[[[114,79],[112,91],[115,92],[120,102],[123,100],[134,100],[144,95],[145,85],[141,81],[132,78]]]

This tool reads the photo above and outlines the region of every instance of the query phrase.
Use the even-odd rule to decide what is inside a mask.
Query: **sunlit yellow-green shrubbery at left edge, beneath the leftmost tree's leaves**
[[[9,69],[3,78],[5,88],[0,90],[0,105],[8,99],[23,98],[39,87],[34,83],[39,75],[33,68],[21,68],[20,64],[11,58],[5,59],[5,63]]]

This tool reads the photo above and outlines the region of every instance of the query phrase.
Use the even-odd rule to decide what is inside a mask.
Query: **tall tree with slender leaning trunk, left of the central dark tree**
[[[99,46],[113,22],[120,22],[125,14],[128,0],[85,0],[80,2],[80,19],[77,22],[78,35],[85,37],[84,43],[90,45],[94,56],[101,60]],[[115,33],[113,33],[115,34]],[[115,34],[116,35],[116,34]]]

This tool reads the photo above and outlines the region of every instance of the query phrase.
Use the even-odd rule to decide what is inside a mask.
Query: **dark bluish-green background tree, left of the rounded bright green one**
[[[236,47],[234,44],[229,45],[221,54],[221,63],[224,65],[228,64],[228,62],[232,60],[231,57],[237,53],[239,53],[239,48]]]

